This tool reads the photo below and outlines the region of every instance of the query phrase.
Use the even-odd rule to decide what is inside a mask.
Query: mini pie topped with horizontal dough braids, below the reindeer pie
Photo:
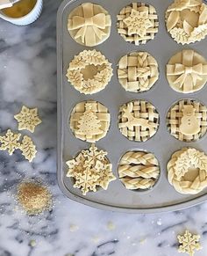
[[[127,189],[149,189],[160,175],[158,160],[152,153],[129,151],[118,165],[119,179]]]

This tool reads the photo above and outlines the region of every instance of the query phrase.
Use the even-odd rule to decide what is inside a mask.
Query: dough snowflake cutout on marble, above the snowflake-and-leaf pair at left
[[[34,132],[34,129],[37,125],[39,125],[42,121],[38,116],[38,108],[28,108],[26,106],[22,106],[22,109],[19,113],[17,113],[14,118],[18,121],[18,130],[29,130],[30,132]]]

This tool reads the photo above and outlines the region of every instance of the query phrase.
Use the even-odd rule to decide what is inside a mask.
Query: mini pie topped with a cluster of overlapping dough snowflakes
[[[82,190],[82,194],[96,192],[98,187],[106,190],[109,183],[116,179],[112,173],[112,165],[106,157],[107,152],[98,150],[94,144],[89,150],[82,150],[74,159],[69,160],[67,177],[74,180],[74,187]]]

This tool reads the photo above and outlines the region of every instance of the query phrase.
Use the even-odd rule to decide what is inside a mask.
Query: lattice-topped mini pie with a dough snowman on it
[[[207,107],[195,100],[182,99],[170,108],[167,126],[176,139],[182,142],[197,141],[207,131]]]

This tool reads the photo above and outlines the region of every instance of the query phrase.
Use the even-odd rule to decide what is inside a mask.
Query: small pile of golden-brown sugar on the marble
[[[28,215],[38,215],[52,206],[52,194],[39,182],[23,181],[20,183],[17,200]]]

